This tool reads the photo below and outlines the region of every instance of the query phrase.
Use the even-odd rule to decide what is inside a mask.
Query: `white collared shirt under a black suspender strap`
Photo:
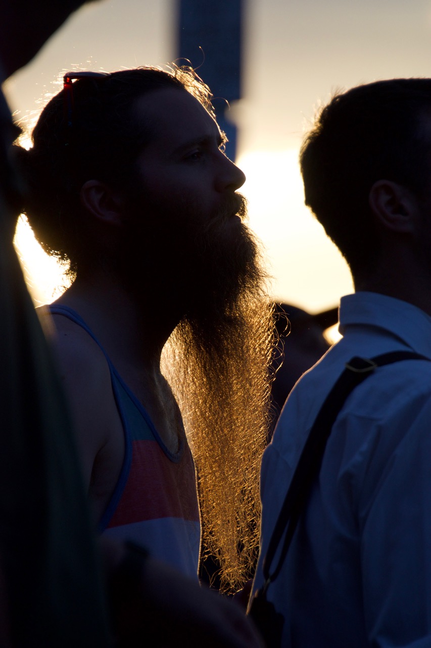
[[[431,358],[431,318],[392,297],[343,297],[340,332],[296,384],[263,456],[254,590],[305,439],[344,364],[399,349]],[[380,367],[349,395],[268,599],[285,617],[285,648],[431,647],[431,362]]]

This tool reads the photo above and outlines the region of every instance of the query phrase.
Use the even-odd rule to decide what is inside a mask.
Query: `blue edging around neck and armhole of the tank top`
[[[50,314],[52,315],[63,315],[67,319],[70,319],[72,322],[80,326],[85,332],[89,334],[89,336],[94,340],[94,342],[98,345],[100,351],[105,356],[105,360],[107,362],[107,365],[109,367],[109,373],[111,375],[111,385],[113,388],[113,393],[114,393],[114,399],[116,403],[116,408],[118,410],[118,413],[120,414],[120,419],[122,422],[123,426],[123,431],[124,431],[124,460],[123,460],[123,465],[121,468],[120,476],[118,478],[118,481],[116,483],[114,492],[111,496],[111,499],[109,500],[107,507],[105,509],[104,514],[102,515],[102,518],[100,519],[100,522],[97,525],[97,530],[98,533],[102,533],[108,526],[112,516],[114,515],[116,511],[116,507],[118,506],[118,503],[120,502],[121,496],[123,494],[124,488],[126,487],[127,479],[129,478],[129,472],[130,472],[130,467],[131,467],[131,458],[132,458],[132,443],[131,443],[131,434],[129,430],[129,424],[127,423],[127,417],[126,413],[124,411],[124,408],[122,406],[120,394],[118,393],[118,384],[122,386],[124,391],[126,392],[127,396],[133,402],[139,413],[142,415],[144,418],[144,421],[146,424],[148,424],[149,429],[151,430],[151,433],[153,434],[155,441],[159,443],[160,448],[163,450],[164,454],[173,462],[179,463],[181,461],[182,454],[184,452],[184,437],[182,437],[178,452],[173,453],[170,452],[170,450],[164,445],[162,439],[160,439],[159,433],[157,432],[155,425],[153,424],[153,421],[151,421],[151,418],[149,417],[148,411],[144,408],[140,400],[137,399],[133,391],[129,387],[127,387],[126,383],[122,379],[122,377],[119,375],[118,371],[116,371],[114,365],[112,364],[111,360],[109,360],[109,356],[107,355],[104,347],[100,344],[96,336],[94,335],[93,331],[89,329],[85,321],[83,321],[82,317],[78,315],[78,313],[70,308],[69,306],[62,306],[62,305],[55,305],[55,304],[50,304],[48,305],[48,310]],[[117,384],[118,383],[118,384]],[[184,432],[184,428],[182,430]]]

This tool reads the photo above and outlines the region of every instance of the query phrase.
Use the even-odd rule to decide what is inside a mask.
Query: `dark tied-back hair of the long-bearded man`
[[[41,112],[32,148],[15,147],[27,185],[22,212],[43,249],[69,260],[72,274],[85,253],[82,185],[98,179],[127,187],[133,181],[138,154],[151,139],[151,124],[137,124],[133,106],[138,98],[166,88],[188,91],[214,117],[210,89],[190,67],[138,67],[74,81],[71,128],[62,90]]]

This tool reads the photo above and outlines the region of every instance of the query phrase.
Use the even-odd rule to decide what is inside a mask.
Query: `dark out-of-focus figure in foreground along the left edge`
[[[3,1],[0,82],[80,4]],[[102,570],[67,408],[12,245],[16,135],[0,93],[0,645],[105,648]]]

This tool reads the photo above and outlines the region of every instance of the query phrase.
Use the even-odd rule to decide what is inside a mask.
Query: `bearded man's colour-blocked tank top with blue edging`
[[[122,421],[124,461],[98,531],[119,540],[133,540],[154,557],[197,577],[201,529],[195,469],[185,436],[178,452],[170,452],[148,412],[83,319],[65,306],[51,305],[49,311],[82,327],[104,354]]]

